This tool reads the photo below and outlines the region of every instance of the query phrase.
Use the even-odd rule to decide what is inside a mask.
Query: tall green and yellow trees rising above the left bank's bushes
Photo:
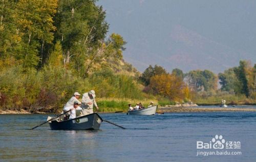
[[[106,38],[109,25],[95,1],[1,1],[0,16],[0,57],[4,61],[14,59],[16,64],[38,70],[55,48],[61,48],[62,57],[54,58],[59,59],[56,62],[85,77],[102,59],[122,58],[125,42],[114,33]]]

